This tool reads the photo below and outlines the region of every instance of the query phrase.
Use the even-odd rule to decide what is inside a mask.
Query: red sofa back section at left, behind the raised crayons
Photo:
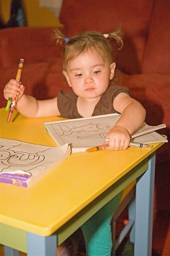
[[[52,28],[6,28],[0,30],[1,67],[17,68],[20,58],[24,65],[48,61],[61,55],[60,45],[52,40]]]

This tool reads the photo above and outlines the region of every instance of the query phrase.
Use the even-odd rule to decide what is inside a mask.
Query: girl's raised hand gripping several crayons
[[[18,100],[24,94],[25,87],[20,84],[15,79],[11,79],[4,87],[4,98],[8,100],[9,98],[14,98],[18,96]]]

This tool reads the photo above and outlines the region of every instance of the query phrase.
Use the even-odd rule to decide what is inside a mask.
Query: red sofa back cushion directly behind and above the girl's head
[[[124,47],[117,54],[118,67],[133,74],[141,72],[141,61],[150,24],[153,0],[64,0],[60,22],[66,36],[86,30],[109,33],[117,28],[124,31]],[[94,15],[95,14],[95,15]]]

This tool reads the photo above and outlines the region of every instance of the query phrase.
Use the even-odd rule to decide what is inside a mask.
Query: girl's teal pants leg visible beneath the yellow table
[[[121,196],[122,192],[81,226],[87,256],[111,256],[111,220]]]

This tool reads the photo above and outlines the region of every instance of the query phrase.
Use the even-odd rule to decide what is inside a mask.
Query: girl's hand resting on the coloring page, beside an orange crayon
[[[116,125],[110,132],[108,132],[105,145],[109,145],[111,150],[126,149],[129,147],[130,134],[127,129],[122,126]]]

